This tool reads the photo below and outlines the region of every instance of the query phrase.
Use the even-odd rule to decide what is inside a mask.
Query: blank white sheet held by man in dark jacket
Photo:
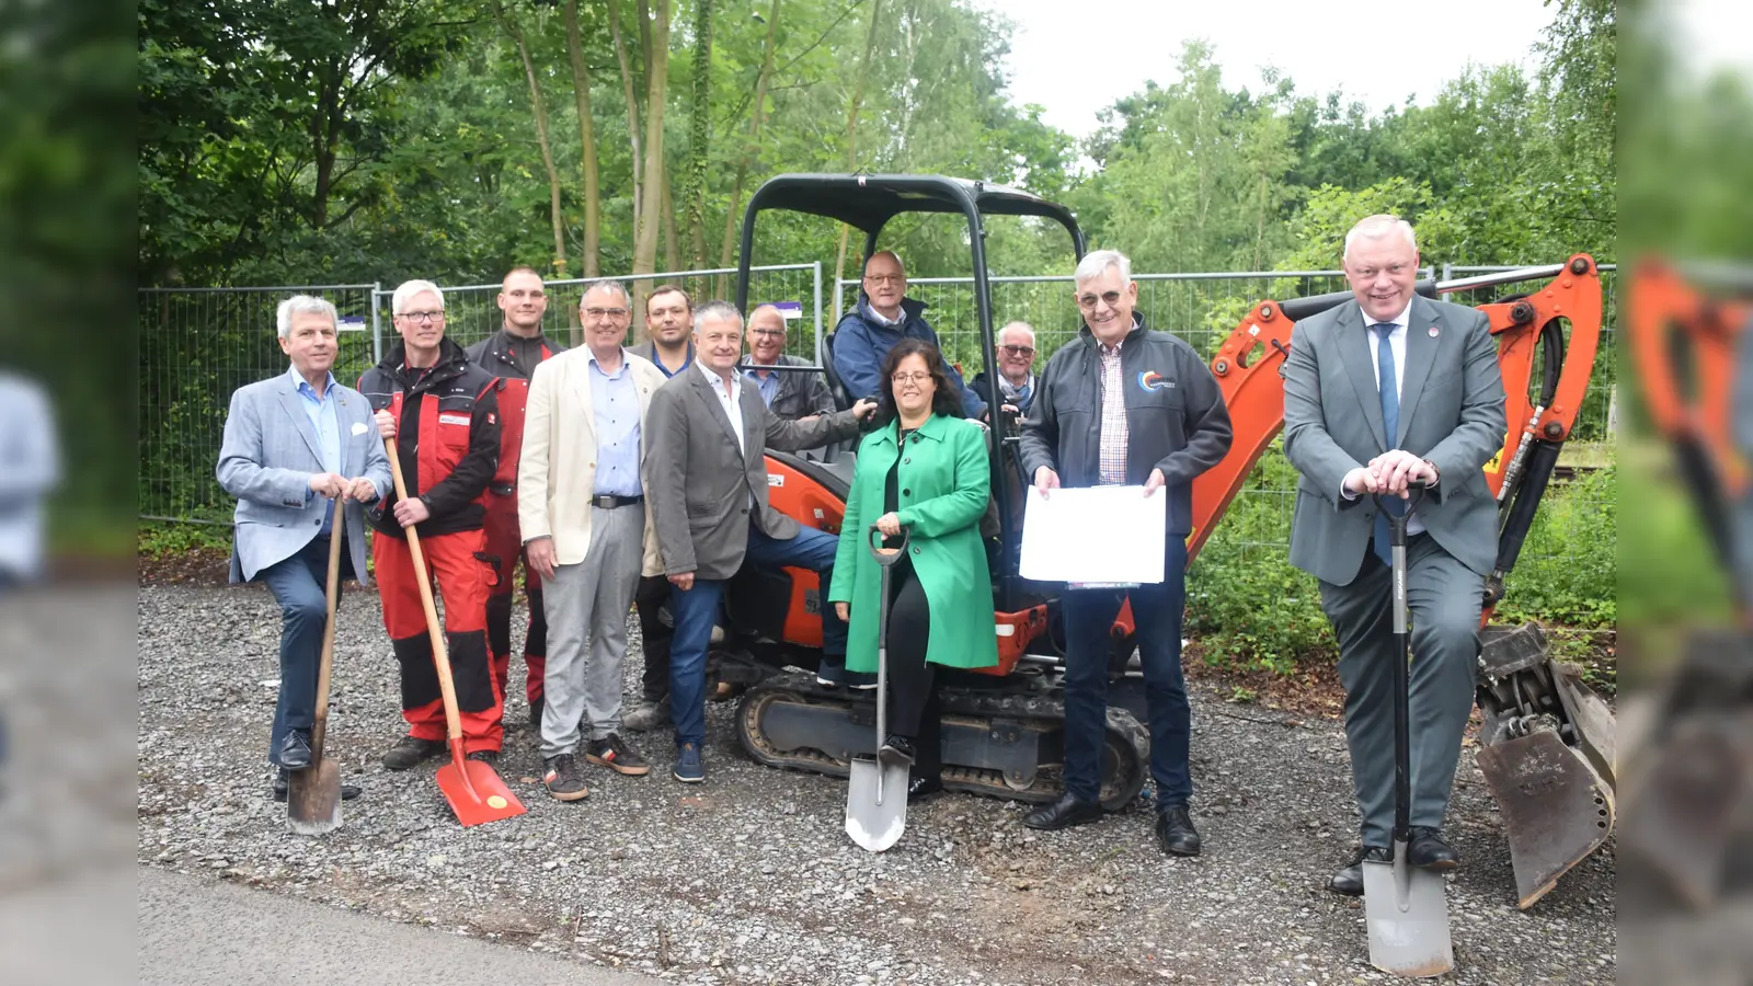
[[[1146,498],[1143,486],[1082,486],[1041,497],[1029,486],[1018,572],[1041,582],[1160,582],[1169,530],[1164,497],[1159,489]]]

